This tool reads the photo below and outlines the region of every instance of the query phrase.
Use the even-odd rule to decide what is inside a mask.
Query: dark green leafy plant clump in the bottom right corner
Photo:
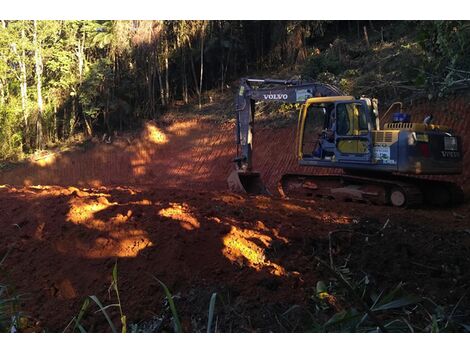
[[[344,267],[337,268],[318,257],[316,259],[332,276],[332,281],[329,285],[323,281],[317,282],[316,293],[312,298],[318,312],[326,312],[333,307],[336,313],[327,318],[326,322],[315,323],[314,331],[470,331],[470,326],[462,323],[462,316],[456,319],[457,308],[465,295],[453,307],[446,308],[429,298],[406,293],[403,283],[390,291],[377,293],[370,287],[367,275],[355,282],[351,275],[344,274]]]

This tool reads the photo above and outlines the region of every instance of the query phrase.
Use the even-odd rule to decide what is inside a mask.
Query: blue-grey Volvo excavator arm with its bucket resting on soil
[[[343,94],[338,88],[324,83],[242,78],[235,99],[236,170],[228,178],[229,188],[239,192],[266,193],[259,173],[253,171],[253,133],[257,101],[295,104],[304,103],[311,97],[340,95]]]

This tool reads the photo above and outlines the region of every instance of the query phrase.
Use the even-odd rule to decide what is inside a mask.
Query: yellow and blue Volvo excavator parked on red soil
[[[429,115],[411,122],[402,111],[380,126],[377,99],[344,95],[324,83],[242,78],[236,96],[236,169],[232,191],[267,193],[253,170],[255,103],[301,104],[296,156],[302,166],[342,169],[337,175],[286,174],[278,190],[286,197],[325,197],[397,207],[449,205],[464,199],[455,183],[417,177],[462,173],[459,136]],[[387,111],[387,112],[388,112]]]

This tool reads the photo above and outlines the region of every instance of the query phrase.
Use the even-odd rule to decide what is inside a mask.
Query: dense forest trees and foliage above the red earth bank
[[[468,87],[469,43],[458,21],[2,20],[0,159],[201,106],[248,74],[440,96]]]

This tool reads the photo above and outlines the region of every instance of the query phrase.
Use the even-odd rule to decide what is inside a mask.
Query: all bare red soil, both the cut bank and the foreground
[[[468,114],[464,101],[449,104]],[[466,117],[442,121],[463,131],[465,148]],[[255,168],[271,190],[286,172],[326,172],[296,165],[294,138],[293,128],[257,130]],[[347,263],[378,288],[405,282],[442,306],[463,296],[458,312],[468,317],[468,203],[407,210],[230,194],[233,142],[229,123],[149,123],[140,135],[3,171],[1,282],[24,294],[30,330],[62,331],[89,295],[116,302],[108,291],[116,261],[122,308],[137,330],[172,330],[156,277],[175,296],[185,331],[205,329],[213,292],[218,331],[305,331],[315,285],[331,279],[316,256]],[[464,188],[467,149],[464,175],[452,178]],[[94,311],[84,326],[107,331]],[[110,314],[117,322],[117,309]]]

